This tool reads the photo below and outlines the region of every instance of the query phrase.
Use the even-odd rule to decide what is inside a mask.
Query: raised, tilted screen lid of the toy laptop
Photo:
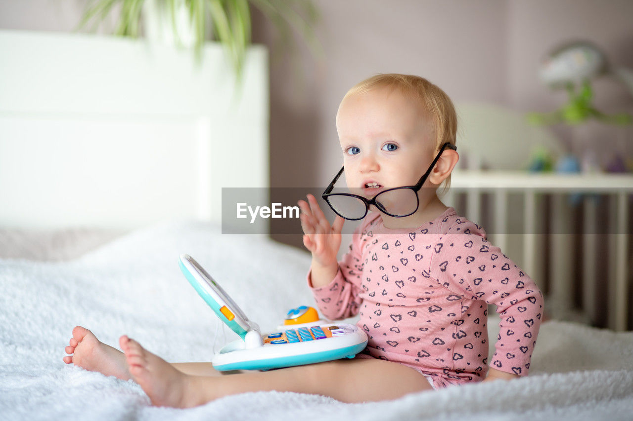
[[[199,287],[196,288],[196,290],[211,308],[215,307],[214,304],[218,307],[226,306],[235,315],[236,319],[241,319],[239,321],[248,326],[249,320],[248,317],[246,317],[246,314],[244,314],[242,309],[239,308],[239,306],[232,300],[229,294],[227,294],[222,287],[216,283],[213,278],[211,278],[211,275],[208,274],[204,268],[196,262],[196,260],[194,260],[191,256],[184,254],[180,256],[180,262],[182,263],[181,267],[187,269],[185,275],[190,275],[187,276],[189,282],[192,286],[194,286],[194,288],[196,288],[196,286]],[[200,289],[203,290],[204,293],[202,293]]]

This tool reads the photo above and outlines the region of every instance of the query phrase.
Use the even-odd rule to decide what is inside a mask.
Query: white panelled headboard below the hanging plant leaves
[[[0,30],[0,227],[220,221],[221,188],[268,186],[268,63],[241,90],[218,44]]]

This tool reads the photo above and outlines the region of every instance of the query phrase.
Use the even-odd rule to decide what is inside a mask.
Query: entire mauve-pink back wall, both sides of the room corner
[[[0,0],[0,28],[69,31],[82,0]],[[549,49],[588,39],[611,62],[633,68],[630,0],[344,0],[315,2],[323,57],[299,43],[294,59],[273,60],[272,186],[324,186],[341,165],[334,117],[354,83],[382,72],[415,73],[455,101],[480,101],[519,111],[551,111],[565,95],[537,77]],[[254,15],[254,41],[272,46],[268,23]],[[278,53],[272,51],[273,59]],[[282,54],[283,56],[283,54]],[[632,95],[603,78],[596,104],[633,113]],[[567,130],[556,132],[569,142]],[[612,137],[613,133],[604,133]],[[606,142],[608,143],[608,142]],[[629,143],[633,143],[629,139]],[[630,150],[630,148],[629,148]],[[286,241],[296,242],[296,239]]]

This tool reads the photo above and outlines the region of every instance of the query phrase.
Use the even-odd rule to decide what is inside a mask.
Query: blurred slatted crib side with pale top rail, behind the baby
[[[631,174],[455,171],[445,197],[546,295],[546,313],[632,328]]]

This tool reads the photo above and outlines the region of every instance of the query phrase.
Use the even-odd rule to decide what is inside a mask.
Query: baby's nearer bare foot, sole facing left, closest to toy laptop
[[[196,376],[180,372],[127,336],[119,339],[119,345],[125,352],[132,379],[141,385],[153,405],[190,408],[204,403],[195,387]]]

